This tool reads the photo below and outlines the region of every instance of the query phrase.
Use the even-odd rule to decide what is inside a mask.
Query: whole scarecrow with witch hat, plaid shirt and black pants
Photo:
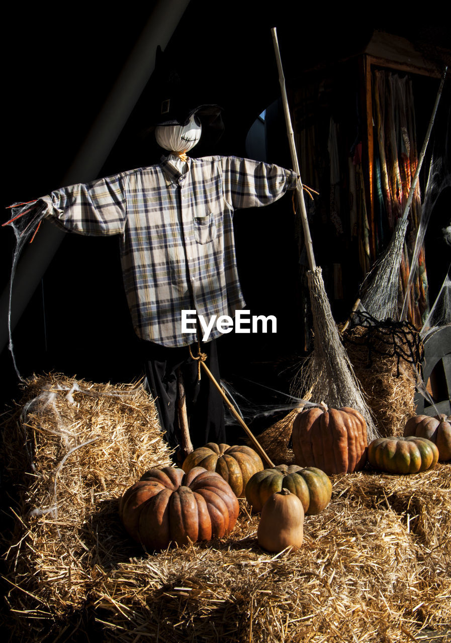
[[[233,156],[189,158],[203,129],[221,133],[221,108],[179,105],[161,102],[154,134],[167,154],[160,163],[60,188],[23,210],[35,216],[34,226],[48,217],[66,231],[120,236],[125,293],[142,341],[147,383],[165,438],[174,448],[181,443],[186,454],[187,426],[181,425],[187,416],[194,448],[225,442],[226,436],[221,395],[199,368],[199,360],[207,359],[219,381],[221,331],[212,329],[201,342],[199,323],[183,332],[182,311],[209,320],[243,309],[234,211],[272,203],[296,187],[297,175]],[[183,395],[185,412],[178,404]]]

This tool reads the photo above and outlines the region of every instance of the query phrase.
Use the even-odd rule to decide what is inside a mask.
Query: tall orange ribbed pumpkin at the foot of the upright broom
[[[301,411],[293,422],[293,451],[300,467],[327,475],[360,471],[366,462],[367,424],[358,411],[322,407]]]

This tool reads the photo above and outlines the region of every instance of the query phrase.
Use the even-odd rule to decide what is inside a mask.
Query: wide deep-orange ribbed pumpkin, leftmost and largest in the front
[[[221,538],[235,526],[239,504],[230,486],[217,473],[194,467],[150,469],[127,489],[119,502],[125,529],[150,550],[170,541]]]

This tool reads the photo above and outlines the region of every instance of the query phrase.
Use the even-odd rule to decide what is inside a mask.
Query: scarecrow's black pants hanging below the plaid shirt
[[[198,362],[190,357],[189,347],[170,349],[150,341],[143,341],[145,372],[151,394],[155,398],[161,428],[165,439],[172,448],[179,444],[178,422],[178,382],[177,370],[180,369],[185,386],[190,437],[194,448],[207,442],[225,442],[225,422],[221,394],[201,368],[198,380]],[[219,382],[216,341],[201,345],[207,354],[206,364]],[[197,355],[198,347],[192,347]]]

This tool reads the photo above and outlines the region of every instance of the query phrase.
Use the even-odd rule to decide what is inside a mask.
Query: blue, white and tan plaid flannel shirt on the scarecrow
[[[235,262],[235,208],[264,206],[295,186],[295,172],[277,165],[211,156],[189,159],[181,174],[169,156],[42,200],[66,230],[120,235],[134,331],[143,340],[180,347],[196,341],[196,333],[181,332],[182,310],[210,320],[233,317],[245,305]],[[210,339],[219,334],[214,327]]]

